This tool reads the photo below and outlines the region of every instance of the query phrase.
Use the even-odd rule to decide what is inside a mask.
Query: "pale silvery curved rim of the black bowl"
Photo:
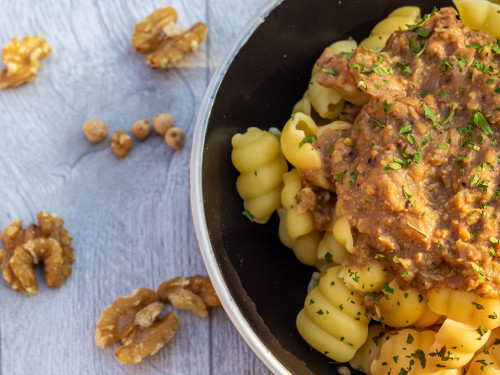
[[[215,70],[203,97],[195,131],[193,134],[193,145],[191,150],[190,183],[191,183],[191,213],[195,227],[196,237],[200,246],[201,255],[205,263],[208,275],[213,282],[215,291],[226,311],[229,319],[243,337],[250,349],[259,359],[275,374],[291,374],[291,372],[279,361],[253,331],[243,313],[234,301],[229,288],[224,282],[222,270],[217,263],[212,244],[208,234],[208,228],[203,206],[202,189],[202,167],[203,152],[206,137],[206,128],[211,114],[212,106],[220,84],[226,75],[229,65],[233,62],[241,47],[248,41],[254,31],[265,21],[266,17],[284,0],[269,0],[258,13],[239,32],[225,58]]]

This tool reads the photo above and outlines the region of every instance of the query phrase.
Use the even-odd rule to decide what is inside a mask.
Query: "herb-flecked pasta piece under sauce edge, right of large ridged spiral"
[[[396,280],[382,287],[384,296],[379,299],[380,321],[390,327],[408,327],[420,321],[423,327],[423,317],[432,315],[428,326],[435,323],[440,316],[432,314],[427,307],[425,296],[415,288],[401,290]],[[433,320],[433,321],[432,321]]]

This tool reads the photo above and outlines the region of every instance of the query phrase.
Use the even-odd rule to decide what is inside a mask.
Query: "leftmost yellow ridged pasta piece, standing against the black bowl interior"
[[[282,175],[288,165],[278,138],[258,128],[248,128],[231,140],[231,160],[241,173],[236,188],[243,205],[257,223],[266,223],[281,205]]]

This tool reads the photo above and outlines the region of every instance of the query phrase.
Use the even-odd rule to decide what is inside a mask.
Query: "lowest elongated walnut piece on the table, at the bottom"
[[[171,311],[151,326],[138,328],[125,345],[115,350],[115,356],[121,363],[139,363],[169,342],[178,325],[179,319],[175,312]]]

